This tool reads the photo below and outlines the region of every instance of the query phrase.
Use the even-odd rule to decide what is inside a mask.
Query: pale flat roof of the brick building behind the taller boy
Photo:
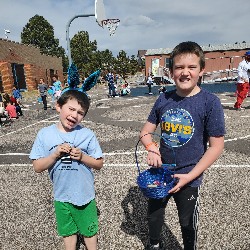
[[[228,51],[228,50],[242,50],[250,49],[250,43],[235,43],[235,44],[221,44],[221,45],[205,45],[201,46],[203,51]],[[172,52],[173,48],[159,48],[159,49],[148,49],[146,56],[150,55],[168,55]]]

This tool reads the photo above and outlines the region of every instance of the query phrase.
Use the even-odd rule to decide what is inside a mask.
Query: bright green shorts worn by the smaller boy
[[[92,200],[83,206],[68,202],[54,201],[57,231],[60,236],[80,233],[92,237],[98,231],[96,201]]]

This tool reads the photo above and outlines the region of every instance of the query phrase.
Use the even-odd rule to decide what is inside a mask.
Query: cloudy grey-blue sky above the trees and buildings
[[[114,36],[98,26],[94,16],[75,18],[69,37],[88,31],[98,50],[109,49],[116,56],[138,50],[174,48],[183,41],[208,44],[250,42],[249,0],[103,0],[106,18],[119,18]],[[55,38],[67,51],[66,27],[77,15],[95,14],[95,0],[0,0],[0,38],[21,42],[29,19],[43,16],[53,27]]]

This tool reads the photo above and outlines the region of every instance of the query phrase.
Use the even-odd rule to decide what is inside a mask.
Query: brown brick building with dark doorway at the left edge
[[[57,74],[63,82],[62,58],[40,53],[39,48],[0,38],[0,91],[37,89],[39,78],[51,83]]]

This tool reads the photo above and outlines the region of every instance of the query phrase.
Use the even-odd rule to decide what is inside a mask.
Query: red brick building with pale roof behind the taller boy
[[[206,68],[203,82],[229,81],[236,78],[237,67],[250,43],[201,46],[205,52]],[[162,77],[168,72],[173,48],[148,49],[145,54],[145,75]]]

